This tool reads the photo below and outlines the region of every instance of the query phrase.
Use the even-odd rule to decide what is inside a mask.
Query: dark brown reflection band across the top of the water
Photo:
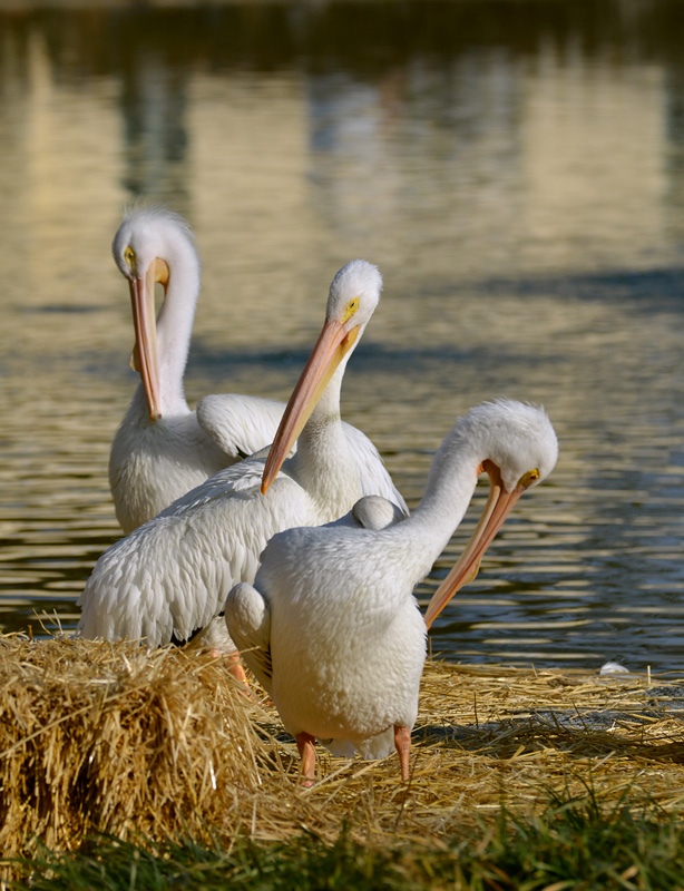
[[[154,52],[173,67],[311,72],[342,67],[361,77],[422,56],[500,48],[534,57],[541,43],[559,53],[681,60],[684,8],[676,0],[494,0],[451,2],[244,3],[163,9],[40,10],[0,14],[0,58],[38,29],[63,76],[120,74]],[[617,53],[617,55],[616,55]],[[2,71],[6,71],[2,65]],[[1,76],[1,75],[0,75]]]

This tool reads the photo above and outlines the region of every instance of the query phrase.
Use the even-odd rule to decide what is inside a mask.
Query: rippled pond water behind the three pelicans
[[[107,459],[135,375],[109,244],[148,195],[203,256],[190,400],[285,399],[363,256],[385,290],[343,411],[410,505],[470,405],[548,409],[558,467],[434,652],[681,668],[682,25],[627,0],[0,13],[1,626],[74,627],[118,537]]]

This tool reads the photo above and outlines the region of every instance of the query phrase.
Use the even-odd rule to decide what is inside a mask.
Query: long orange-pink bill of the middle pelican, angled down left
[[[262,477],[262,492],[268,489],[277,476],[283,461],[311,417],[311,412],[321,399],[330,379],[335,373],[340,362],[354,345],[359,336],[359,325],[345,330],[344,325],[336,321],[326,321],[323,325],[323,331],[316,341],[316,345],[313,347],[304,371],[292,391],[290,402],[271,446],[264,467],[264,476]]]

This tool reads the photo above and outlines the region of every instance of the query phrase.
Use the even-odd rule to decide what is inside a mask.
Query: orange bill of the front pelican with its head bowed
[[[512,492],[507,492],[498,482],[491,481],[485,511],[470,541],[466,545],[466,549],[456,566],[434,591],[432,599],[428,604],[428,611],[426,613],[428,628],[430,628],[453,595],[477,576],[485,551],[491,545],[494,537],[527,488],[527,486],[519,484]]]

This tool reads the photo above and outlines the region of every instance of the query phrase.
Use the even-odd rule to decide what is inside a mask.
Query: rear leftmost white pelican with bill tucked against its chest
[[[124,532],[224,467],[267,446],[284,405],[256,396],[207,396],[196,411],[183,375],[199,294],[199,258],[186,223],[168,210],[126,214],[111,246],[128,280],[140,384],[109,454],[109,486]],[[155,322],[155,284],[164,303]]]

